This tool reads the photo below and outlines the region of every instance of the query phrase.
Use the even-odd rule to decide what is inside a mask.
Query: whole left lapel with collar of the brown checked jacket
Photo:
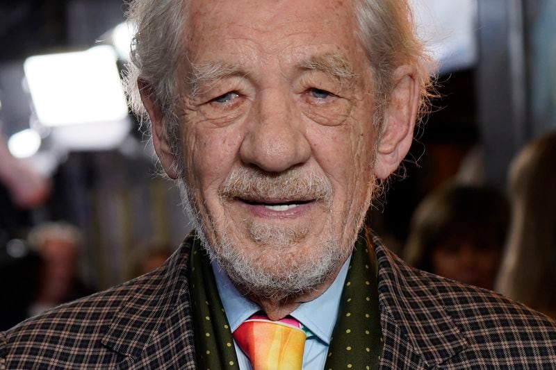
[[[140,362],[141,367],[152,367],[149,362],[160,361],[163,357],[165,363],[170,363],[175,360],[172,355],[184,352],[193,360],[186,283],[189,251],[190,246],[184,242],[163,267],[140,276],[138,279],[142,281],[126,283],[129,285],[124,294],[127,300],[101,339],[104,346],[127,357],[124,367],[136,362]]]

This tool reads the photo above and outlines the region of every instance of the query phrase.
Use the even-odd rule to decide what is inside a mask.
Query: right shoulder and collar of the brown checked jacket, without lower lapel
[[[512,299],[409,267],[375,236],[382,308],[434,367],[543,368],[556,322]]]

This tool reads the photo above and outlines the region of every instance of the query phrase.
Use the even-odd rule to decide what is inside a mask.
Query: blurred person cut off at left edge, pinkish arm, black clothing
[[[50,179],[10,153],[0,127],[0,330],[29,317],[37,296],[42,258],[20,238],[50,194]]]

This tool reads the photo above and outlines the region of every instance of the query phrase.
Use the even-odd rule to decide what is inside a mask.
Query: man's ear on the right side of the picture
[[[375,176],[382,180],[398,169],[409,151],[420,99],[419,83],[412,67],[398,67],[393,81],[395,85],[386,102],[375,159]]]

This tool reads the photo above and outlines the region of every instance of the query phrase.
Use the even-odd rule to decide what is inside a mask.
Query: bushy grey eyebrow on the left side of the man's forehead
[[[190,94],[193,98],[203,91],[211,90],[222,78],[229,76],[247,76],[247,72],[239,65],[226,62],[191,63],[191,71],[187,77]]]

